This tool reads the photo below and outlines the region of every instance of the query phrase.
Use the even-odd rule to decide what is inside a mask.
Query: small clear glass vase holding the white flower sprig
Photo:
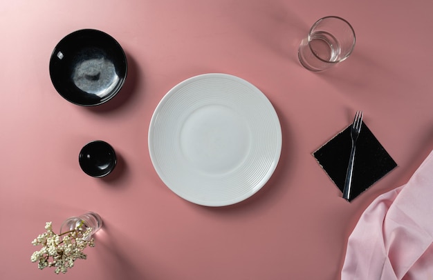
[[[102,227],[102,219],[99,214],[95,212],[86,212],[78,217],[71,217],[66,219],[60,227],[60,234],[72,230],[79,230],[86,232],[88,228],[92,228],[91,234],[86,236],[86,240],[90,240],[92,235],[95,234]]]

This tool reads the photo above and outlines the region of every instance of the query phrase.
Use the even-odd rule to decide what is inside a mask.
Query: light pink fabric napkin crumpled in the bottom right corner
[[[343,280],[433,279],[433,152],[409,181],[380,195],[351,233]]]

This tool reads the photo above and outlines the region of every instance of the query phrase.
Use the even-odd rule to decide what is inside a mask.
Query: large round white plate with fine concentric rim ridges
[[[270,101],[229,74],[202,74],[174,86],[149,127],[150,157],[160,179],[203,206],[227,206],[255,194],[273,174],[281,148]]]

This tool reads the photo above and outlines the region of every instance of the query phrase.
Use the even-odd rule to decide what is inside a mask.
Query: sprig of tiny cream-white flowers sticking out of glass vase
[[[32,254],[30,261],[38,262],[38,268],[55,267],[54,272],[66,273],[68,268],[74,266],[76,259],[86,259],[87,255],[82,251],[87,246],[94,247],[95,243],[91,237],[92,228],[86,228],[81,221],[73,230],[62,234],[53,232],[53,223],[47,222],[46,232],[32,241],[34,246],[42,245],[42,249]],[[84,230],[85,228],[85,230]],[[89,239],[89,240],[87,240]]]

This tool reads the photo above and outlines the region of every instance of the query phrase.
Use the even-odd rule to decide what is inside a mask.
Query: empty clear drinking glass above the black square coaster
[[[355,47],[355,32],[341,17],[323,17],[316,21],[297,51],[304,68],[322,71],[347,59]]]

